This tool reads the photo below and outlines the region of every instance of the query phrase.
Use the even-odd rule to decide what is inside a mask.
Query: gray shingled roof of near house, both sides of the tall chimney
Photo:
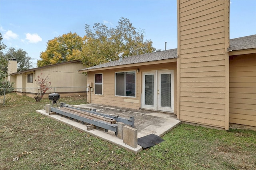
[[[232,51],[256,48],[256,35],[230,39],[230,48],[232,49]],[[177,58],[177,49],[146,53],[142,55],[135,55],[135,56],[123,58],[121,62],[119,60],[110,61],[108,63],[84,68],[82,70],[91,70],[94,68],[121,66],[126,64],[144,63],[149,61],[159,61],[159,60],[173,59],[173,58]]]

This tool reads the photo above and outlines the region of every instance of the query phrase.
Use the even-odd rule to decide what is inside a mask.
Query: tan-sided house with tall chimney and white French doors
[[[84,68],[88,102],[256,129],[256,35],[229,39],[229,0],[178,0],[178,48]]]

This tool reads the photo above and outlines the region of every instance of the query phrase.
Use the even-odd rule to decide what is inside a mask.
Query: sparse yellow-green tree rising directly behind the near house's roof
[[[121,52],[124,52],[123,56],[129,57],[155,50],[151,40],[144,41],[144,30],[137,30],[126,18],[120,18],[116,28],[95,23],[92,30],[86,24],[85,32],[82,62],[88,66],[117,60]]]

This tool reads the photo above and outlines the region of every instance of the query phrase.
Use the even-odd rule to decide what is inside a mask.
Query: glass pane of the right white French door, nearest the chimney
[[[171,74],[161,74],[161,106],[171,107]]]

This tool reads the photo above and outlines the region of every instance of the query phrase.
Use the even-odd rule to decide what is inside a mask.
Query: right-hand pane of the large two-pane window
[[[125,73],[125,96],[135,96],[135,71]]]

